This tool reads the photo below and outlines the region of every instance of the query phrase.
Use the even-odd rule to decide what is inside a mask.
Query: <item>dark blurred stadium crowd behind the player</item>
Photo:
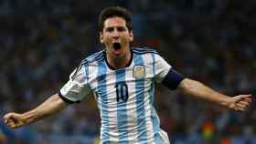
[[[103,48],[97,18],[110,5],[132,11],[133,46],[155,48],[186,77],[229,96],[255,92],[254,0],[0,0],[1,117],[58,93],[80,60]],[[158,86],[155,108],[173,144],[256,144],[254,103],[235,113]],[[100,120],[89,96],[21,129],[0,120],[0,143],[97,143]]]

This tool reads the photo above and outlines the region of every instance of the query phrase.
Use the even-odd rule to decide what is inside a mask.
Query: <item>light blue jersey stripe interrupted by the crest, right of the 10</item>
[[[134,55],[134,64],[136,66],[144,66],[144,60],[141,55]],[[146,123],[144,111],[144,79],[136,79],[135,81],[136,93],[136,112],[138,124],[138,141],[146,142]]]

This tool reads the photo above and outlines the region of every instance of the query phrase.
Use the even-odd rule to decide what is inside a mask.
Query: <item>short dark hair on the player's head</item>
[[[99,15],[99,28],[100,31],[102,32],[103,27],[104,27],[104,22],[108,18],[112,17],[122,17],[125,22],[126,26],[129,29],[129,31],[132,30],[132,18],[131,18],[131,12],[129,12],[127,9],[121,7],[121,6],[112,6],[112,7],[107,7],[101,11],[101,15]]]

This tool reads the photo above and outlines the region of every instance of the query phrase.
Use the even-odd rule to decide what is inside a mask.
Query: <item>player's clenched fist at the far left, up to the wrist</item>
[[[22,114],[10,112],[4,116],[4,121],[7,126],[12,129],[22,127],[27,124],[27,120],[23,118]]]

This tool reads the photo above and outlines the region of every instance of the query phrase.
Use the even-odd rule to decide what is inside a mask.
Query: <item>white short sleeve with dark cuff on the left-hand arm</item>
[[[91,92],[87,79],[85,66],[80,65],[70,74],[69,81],[61,87],[59,97],[67,103],[80,102]]]

